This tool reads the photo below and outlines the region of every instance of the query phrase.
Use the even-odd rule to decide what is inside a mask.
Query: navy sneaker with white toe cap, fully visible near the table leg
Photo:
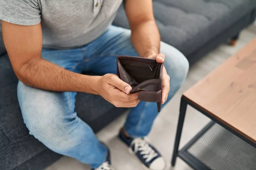
[[[145,138],[127,138],[121,131],[119,138],[128,145],[129,152],[137,156],[146,170],[164,170],[166,161]]]

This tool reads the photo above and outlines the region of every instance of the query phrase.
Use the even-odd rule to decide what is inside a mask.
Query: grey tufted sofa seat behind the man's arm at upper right
[[[162,41],[185,56],[256,8],[256,0],[153,0]],[[129,28],[123,6],[113,22]]]

